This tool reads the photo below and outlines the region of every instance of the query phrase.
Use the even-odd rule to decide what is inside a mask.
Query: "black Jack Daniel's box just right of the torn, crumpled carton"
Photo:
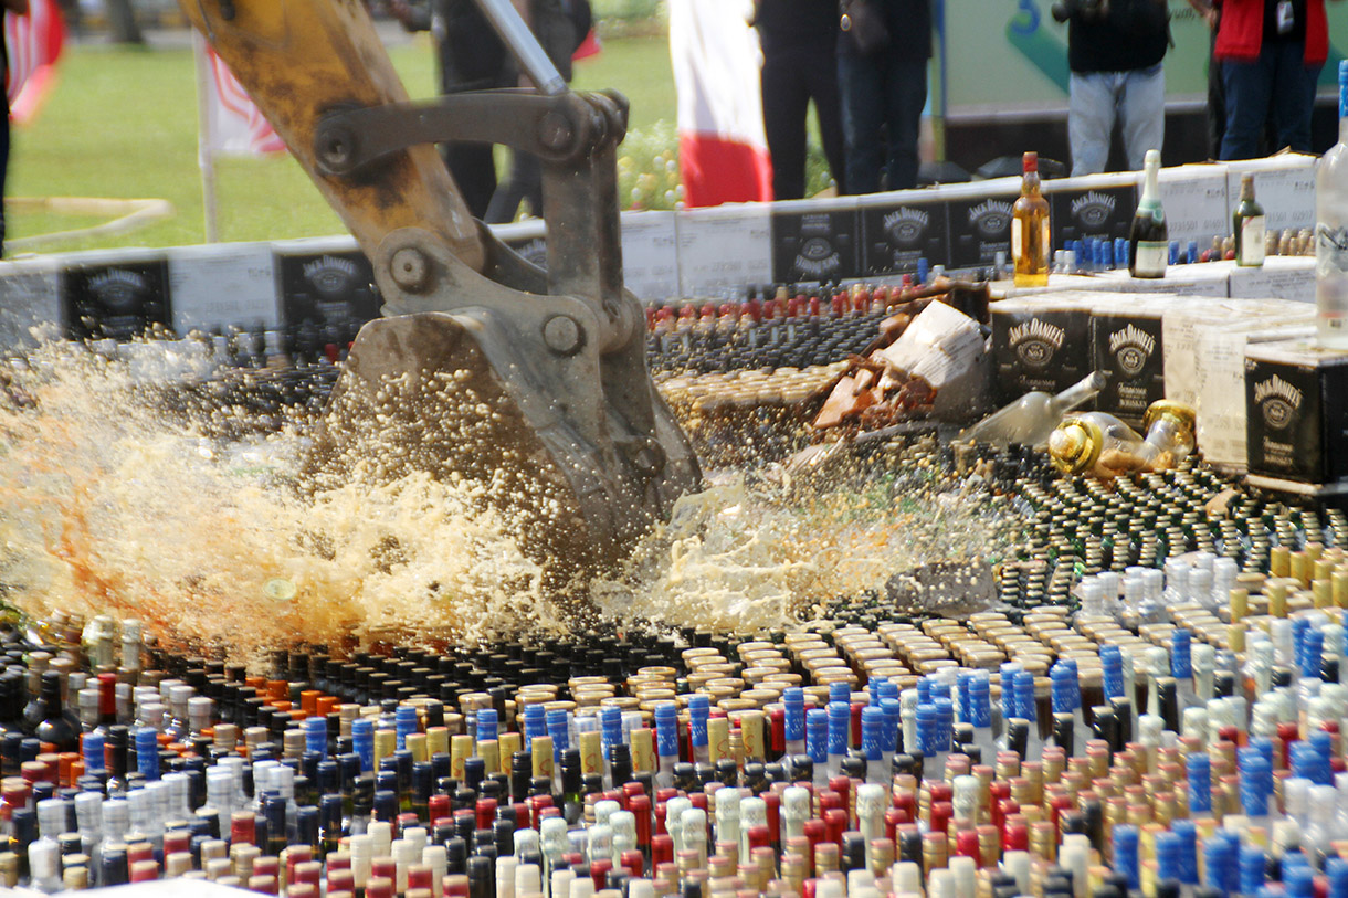
[[[1031,390],[1061,392],[1091,373],[1091,302],[1057,293],[989,306],[998,405]]]

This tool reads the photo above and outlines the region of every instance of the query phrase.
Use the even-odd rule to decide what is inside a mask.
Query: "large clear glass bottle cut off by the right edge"
[[[1339,143],[1316,174],[1316,330],[1348,349],[1348,61],[1339,63]]]

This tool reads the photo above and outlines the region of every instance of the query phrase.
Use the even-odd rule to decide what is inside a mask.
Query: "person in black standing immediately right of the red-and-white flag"
[[[772,196],[805,196],[805,119],[810,101],[824,156],[847,193],[842,116],[838,108],[836,0],[755,0],[763,46],[763,128],[772,156]]]

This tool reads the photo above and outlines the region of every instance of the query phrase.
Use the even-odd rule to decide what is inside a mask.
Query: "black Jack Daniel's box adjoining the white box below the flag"
[[[857,202],[841,200],[772,204],[775,280],[836,282],[860,274]]]

